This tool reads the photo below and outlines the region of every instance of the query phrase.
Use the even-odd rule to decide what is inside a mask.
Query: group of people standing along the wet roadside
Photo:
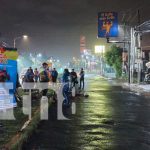
[[[81,71],[79,73],[79,81],[80,81],[80,89],[84,89],[84,69],[81,68]],[[38,71],[37,68],[33,69],[30,67],[25,76],[24,81],[25,82],[53,82],[56,83],[58,80],[58,72],[56,68],[53,68],[52,70],[49,69],[49,66],[46,62],[42,64],[42,70]],[[62,94],[64,96],[64,105],[70,106],[70,93],[72,89],[74,90],[78,87],[78,75],[75,72],[74,69],[72,69],[71,72],[66,68],[64,69],[64,72],[62,74],[62,82],[65,83],[63,86]],[[71,84],[70,84],[71,83]],[[71,85],[71,86],[70,86]],[[76,86],[77,85],[77,86]],[[42,90],[42,96],[47,96],[48,88]]]

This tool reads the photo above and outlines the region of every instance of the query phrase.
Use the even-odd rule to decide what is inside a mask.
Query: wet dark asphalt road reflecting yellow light
[[[42,121],[24,150],[149,150],[150,99],[95,77],[88,79],[88,98],[78,97],[70,121]]]

